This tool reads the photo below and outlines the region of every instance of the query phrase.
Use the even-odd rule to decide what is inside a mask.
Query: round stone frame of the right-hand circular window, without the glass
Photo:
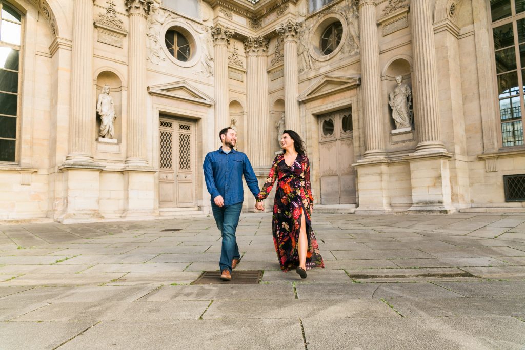
[[[324,31],[333,23],[340,22],[341,26],[343,27],[343,34],[341,36],[341,43],[330,52],[328,55],[323,55],[323,52],[321,50],[321,36],[323,35]],[[316,23],[313,24],[312,30],[310,31],[310,36],[308,38],[308,51],[310,51],[310,55],[319,62],[328,61],[329,59],[333,58],[335,55],[339,54],[339,51],[344,46],[344,43],[346,43],[346,39],[348,37],[348,23],[346,23],[346,19],[343,15],[339,13],[328,13],[324,16],[321,16]]]

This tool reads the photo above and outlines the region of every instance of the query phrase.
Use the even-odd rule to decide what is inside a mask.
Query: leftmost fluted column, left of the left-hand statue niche
[[[67,163],[92,163],[93,1],[75,0],[71,47],[71,111]]]

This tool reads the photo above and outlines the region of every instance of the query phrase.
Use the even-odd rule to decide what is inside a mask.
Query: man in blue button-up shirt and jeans
[[[235,130],[224,128],[219,137],[223,145],[217,151],[206,154],[203,169],[206,187],[212,196],[213,217],[223,237],[220,279],[231,281],[232,269],[240,262],[235,231],[244,200],[243,174],[254,197],[259,194],[259,184],[246,154],[234,149],[237,143]]]

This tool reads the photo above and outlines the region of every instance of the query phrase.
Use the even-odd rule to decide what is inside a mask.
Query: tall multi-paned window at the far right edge
[[[503,146],[523,145],[525,0],[491,0]]]

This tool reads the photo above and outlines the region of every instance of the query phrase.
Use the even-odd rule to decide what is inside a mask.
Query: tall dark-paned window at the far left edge
[[[0,1],[0,162],[16,160],[20,15]]]

